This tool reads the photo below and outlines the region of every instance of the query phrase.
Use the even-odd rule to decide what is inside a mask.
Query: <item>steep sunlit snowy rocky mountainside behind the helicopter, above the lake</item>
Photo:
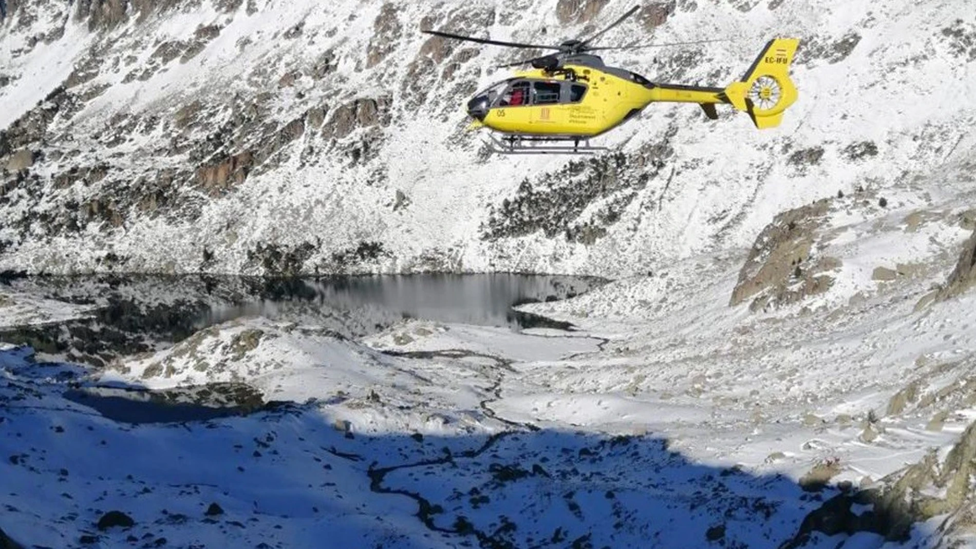
[[[9,2],[0,26],[0,267],[32,272],[529,270],[608,276],[748,247],[858,187],[924,205],[972,161],[966,0],[658,2],[606,45],[652,80],[724,85],[801,40],[800,99],[758,132],[651,105],[596,158],[486,156],[462,105],[518,52],[626,2]],[[938,84],[933,84],[938,83]]]

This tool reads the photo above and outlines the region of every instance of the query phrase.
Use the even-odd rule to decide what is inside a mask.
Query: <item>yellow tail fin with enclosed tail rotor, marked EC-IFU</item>
[[[775,38],[755,59],[739,82],[725,88],[725,97],[739,110],[749,112],[756,128],[775,128],[783,111],[798,97],[790,80],[790,64],[799,40]]]

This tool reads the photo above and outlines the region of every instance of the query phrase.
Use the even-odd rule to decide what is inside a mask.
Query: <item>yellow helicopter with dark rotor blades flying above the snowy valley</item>
[[[729,103],[737,110],[748,112],[757,128],[774,128],[780,124],[783,112],[798,95],[789,74],[799,44],[797,39],[770,40],[742,79],[725,88],[661,84],[630,70],[607,66],[603,59],[590,52],[700,44],[714,40],[591,46],[638,8],[632,8],[590,38],[568,40],[558,46],[474,38],[437,30],[422,32],[480,44],[555,50],[546,56],[501,65],[499,68],[531,64],[533,70],[518,72],[497,82],[468,101],[468,115],[473,119],[470,128],[492,130],[490,136],[495,152],[591,153],[605,150],[605,147],[590,146],[590,137],[620,126],[648,104],[659,101],[698,103],[712,120],[718,117],[715,104]]]

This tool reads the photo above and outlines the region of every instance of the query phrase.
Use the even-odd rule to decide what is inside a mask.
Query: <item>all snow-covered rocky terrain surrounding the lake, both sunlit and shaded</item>
[[[769,132],[652,105],[585,160],[481,154],[459,105],[511,53],[418,30],[551,42],[630,4],[144,4],[8,2],[0,269],[615,280],[522,307],[572,331],[298,303],[110,354],[93,293],[223,320],[247,289],[4,282],[0,528],[24,546],[976,543],[967,0],[648,6],[606,45],[729,41],[608,60],[721,84],[797,36],[800,99]],[[20,345],[74,321],[94,350]],[[266,405],[99,412],[234,384]]]

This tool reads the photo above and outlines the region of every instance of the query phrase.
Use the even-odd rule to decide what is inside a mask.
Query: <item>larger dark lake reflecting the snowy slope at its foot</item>
[[[56,325],[8,325],[0,328],[0,341],[26,343],[57,358],[100,366],[114,357],[151,351],[243,316],[325,326],[348,337],[382,331],[404,318],[512,330],[569,330],[572,327],[566,323],[513,307],[572,297],[602,283],[592,278],[519,274],[8,277],[0,282],[0,291],[95,308],[87,318]]]

